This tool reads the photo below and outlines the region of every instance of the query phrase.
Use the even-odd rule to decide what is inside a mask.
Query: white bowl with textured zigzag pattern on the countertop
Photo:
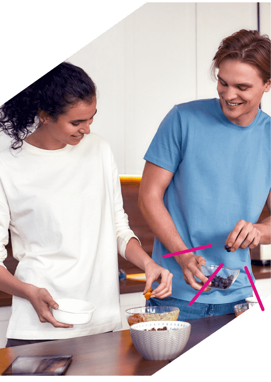
[[[165,326],[167,330],[157,331]],[[152,328],[156,331],[149,331]],[[152,360],[177,358],[189,340],[190,332],[191,324],[184,321],[139,322],[130,327],[135,348],[145,359]]]

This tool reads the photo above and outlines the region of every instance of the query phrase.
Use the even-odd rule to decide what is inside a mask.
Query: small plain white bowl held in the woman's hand
[[[55,302],[58,309],[52,309],[53,316],[58,322],[69,323],[71,325],[82,325],[90,322],[95,311],[95,305],[87,301],[74,298],[58,298]]]

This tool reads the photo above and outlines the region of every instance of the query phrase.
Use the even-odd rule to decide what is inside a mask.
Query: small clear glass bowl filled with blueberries
[[[208,265],[208,264],[199,264],[199,270],[207,278],[217,270],[219,265]],[[212,279],[212,285],[208,288],[214,289],[228,289],[235,282],[237,276],[239,275],[239,269],[231,268],[221,268],[220,271]],[[201,282],[203,285],[203,282]]]

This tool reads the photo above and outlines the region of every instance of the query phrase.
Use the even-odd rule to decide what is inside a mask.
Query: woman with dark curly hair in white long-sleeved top
[[[171,294],[172,274],[129,228],[110,146],[90,132],[96,104],[89,76],[64,62],[2,106],[0,126],[14,138],[0,151],[0,289],[13,295],[7,347],[120,329],[117,251],[144,270],[144,293],[161,276],[153,295]],[[3,264],[8,228],[14,276]],[[56,321],[51,310],[64,297],[96,305],[90,323]]]

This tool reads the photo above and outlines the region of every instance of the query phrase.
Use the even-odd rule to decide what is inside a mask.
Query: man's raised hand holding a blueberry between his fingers
[[[258,227],[261,224],[252,224],[244,220],[239,220],[234,229],[225,241],[225,244],[231,247],[231,251],[235,252],[239,247],[245,249],[254,249],[260,242],[262,233]]]

